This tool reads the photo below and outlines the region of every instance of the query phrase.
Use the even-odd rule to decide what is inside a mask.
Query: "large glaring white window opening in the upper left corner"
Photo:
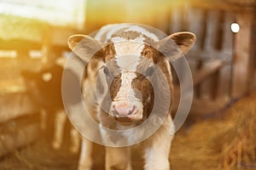
[[[86,0],[0,0],[0,14],[83,29]]]

